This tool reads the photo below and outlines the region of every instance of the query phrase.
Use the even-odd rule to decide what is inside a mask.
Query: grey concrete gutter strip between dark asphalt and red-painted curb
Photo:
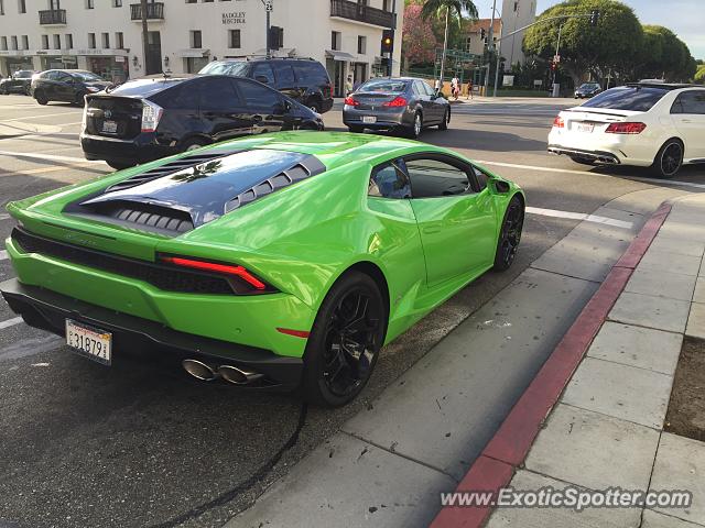
[[[227,527],[427,526],[648,215],[677,196],[599,208],[628,227],[577,224]]]

